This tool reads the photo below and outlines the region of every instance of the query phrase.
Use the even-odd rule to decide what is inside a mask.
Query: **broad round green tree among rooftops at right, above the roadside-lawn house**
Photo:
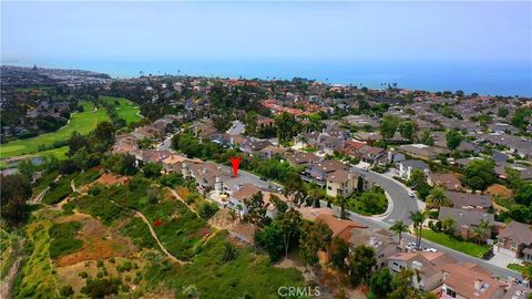
[[[475,190],[484,190],[495,181],[494,163],[475,159],[463,169],[463,182]]]

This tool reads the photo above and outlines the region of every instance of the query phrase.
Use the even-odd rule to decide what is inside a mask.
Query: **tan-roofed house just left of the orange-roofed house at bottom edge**
[[[417,278],[412,279],[412,287],[430,291],[443,283],[442,267],[447,264],[454,264],[457,260],[444,252],[397,252],[387,258],[388,267],[392,272],[401,269],[412,269]]]

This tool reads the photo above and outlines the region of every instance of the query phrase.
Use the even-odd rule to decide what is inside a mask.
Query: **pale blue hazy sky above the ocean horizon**
[[[532,2],[1,2],[1,59],[512,61]]]

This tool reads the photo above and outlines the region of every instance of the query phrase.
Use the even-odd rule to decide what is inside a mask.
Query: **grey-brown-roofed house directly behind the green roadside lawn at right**
[[[446,218],[454,219],[454,231],[460,234],[463,238],[472,237],[473,229],[480,225],[480,221],[485,220],[493,227],[495,225],[495,219],[493,214],[488,214],[477,209],[462,209],[462,208],[450,208],[450,207],[440,207],[440,213],[438,215],[439,220]],[[489,237],[489,233],[484,236],[484,239]]]

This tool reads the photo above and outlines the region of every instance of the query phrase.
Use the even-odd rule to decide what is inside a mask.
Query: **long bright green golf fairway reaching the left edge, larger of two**
[[[89,102],[84,102],[82,105],[84,112],[73,113],[70,117],[70,123],[55,132],[2,144],[0,146],[0,158],[37,153],[39,152],[40,145],[52,146],[55,142],[66,141],[74,131],[81,134],[88,134],[94,130],[99,123],[109,120],[105,110],[100,109],[94,111],[93,104]],[[51,153],[61,154],[61,151],[64,150]]]

